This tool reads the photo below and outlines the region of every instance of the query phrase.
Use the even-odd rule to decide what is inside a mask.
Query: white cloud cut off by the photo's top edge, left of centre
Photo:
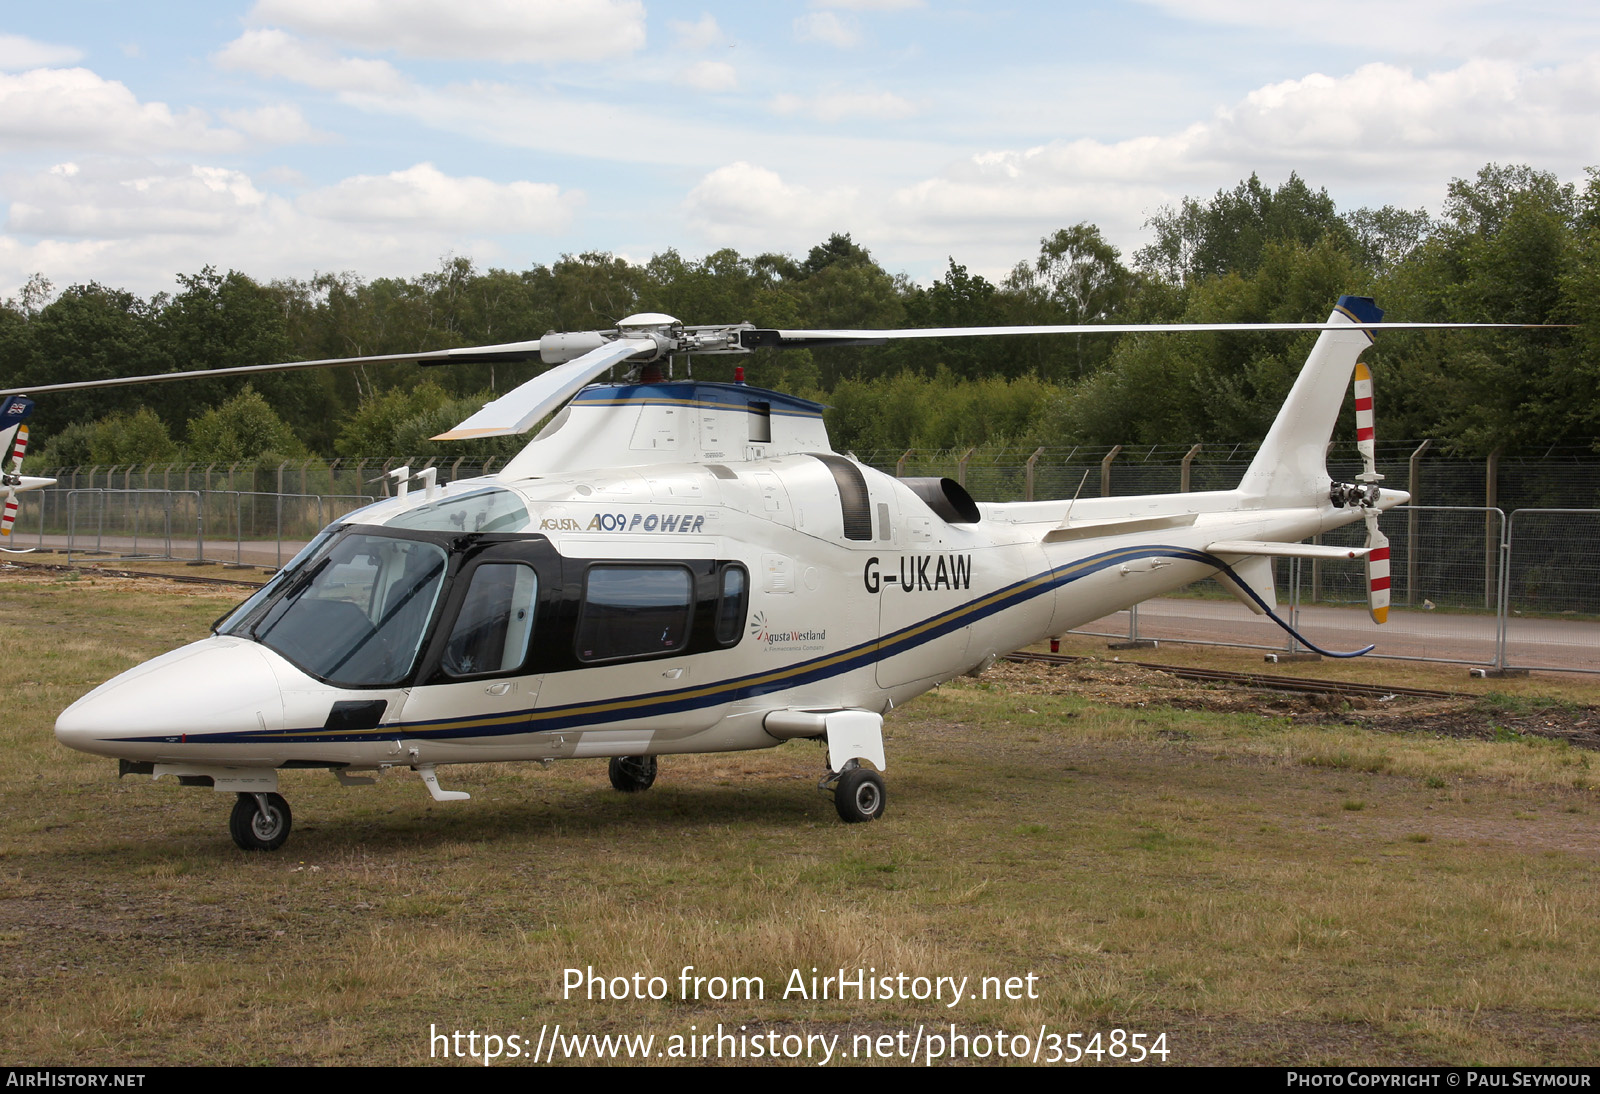
[[[414,58],[549,64],[645,46],[638,0],[258,0],[250,18]]]

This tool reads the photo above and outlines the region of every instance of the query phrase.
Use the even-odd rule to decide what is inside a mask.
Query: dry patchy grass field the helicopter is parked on
[[[1006,667],[891,715],[875,824],[837,820],[822,750],[795,742],[666,758],[643,795],[614,793],[603,761],[451,768],[474,800],[450,805],[411,773],[285,773],[294,835],[251,856],[227,838],[230,795],[118,782],[50,731],[237,598],[0,576],[8,1064],[438,1062],[430,1027],[531,1041],[555,1024],[656,1051],[718,1024],[838,1035],[835,1064],[858,1035],[950,1024],[1101,1048],[1165,1033],[1173,1064],[1600,1049],[1600,757],[1562,741],[1184,710],[1120,667]],[[1571,717],[1594,685],[1509,686],[1499,707]],[[659,976],[669,998],[563,998],[563,969],[590,966]],[[755,977],[765,1000],[693,998],[685,966]],[[1034,976],[1037,998],[782,998],[813,968],[971,992]]]

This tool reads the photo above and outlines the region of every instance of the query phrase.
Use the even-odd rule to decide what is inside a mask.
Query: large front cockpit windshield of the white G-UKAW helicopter
[[[403,681],[445,584],[445,549],[347,534],[290,577],[248,637],[344,688]]]

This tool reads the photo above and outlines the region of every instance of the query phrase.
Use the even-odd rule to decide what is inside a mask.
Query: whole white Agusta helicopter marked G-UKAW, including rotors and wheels
[[[56,737],[122,774],[235,793],[230,833],[258,851],[290,835],[283,769],[355,785],[411,768],[453,801],[469,795],[442,789],[440,766],[610,757],[611,784],[637,792],[661,755],[797,737],[827,742],[819,785],[840,817],[872,820],[885,712],[1021,646],[1208,576],[1286,629],[1274,557],[1365,558],[1382,622],[1378,513],[1406,494],[1378,485],[1357,363],[1381,318],[1350,296],[1326,323],[1245,328],[782,331],[651,313],[506,345],[115,381],[538,355],[554,368],[437,440],[520,433],[558,413],[496,475],[440,486],[432,469],[392,472],[395,497],[330,525],[211,637],[78,699]],[[670,382],[656,365],[1152,329],[1322,331],[1235,489],[978,504],[949,478],[894,478],[835,453],[822,406],[746,385],[742,369],[733,384]],[[622,363],[643,371],[592,384]],[[1365,473],[1336,483],[1325,454],[1352,373]],[[1366,523],[1362,549],[1299,542],[1352,521]]]

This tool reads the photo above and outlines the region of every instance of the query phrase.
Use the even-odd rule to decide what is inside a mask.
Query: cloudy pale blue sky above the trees
[[[1000,277],[1258,171],[1427,206],[1600,163],[1576,0],[114,0],[0,8],[0,296],[803,253]],[[685,317],[696,318],[696,317]],[[702,317],[698,317],[702,318]]]

